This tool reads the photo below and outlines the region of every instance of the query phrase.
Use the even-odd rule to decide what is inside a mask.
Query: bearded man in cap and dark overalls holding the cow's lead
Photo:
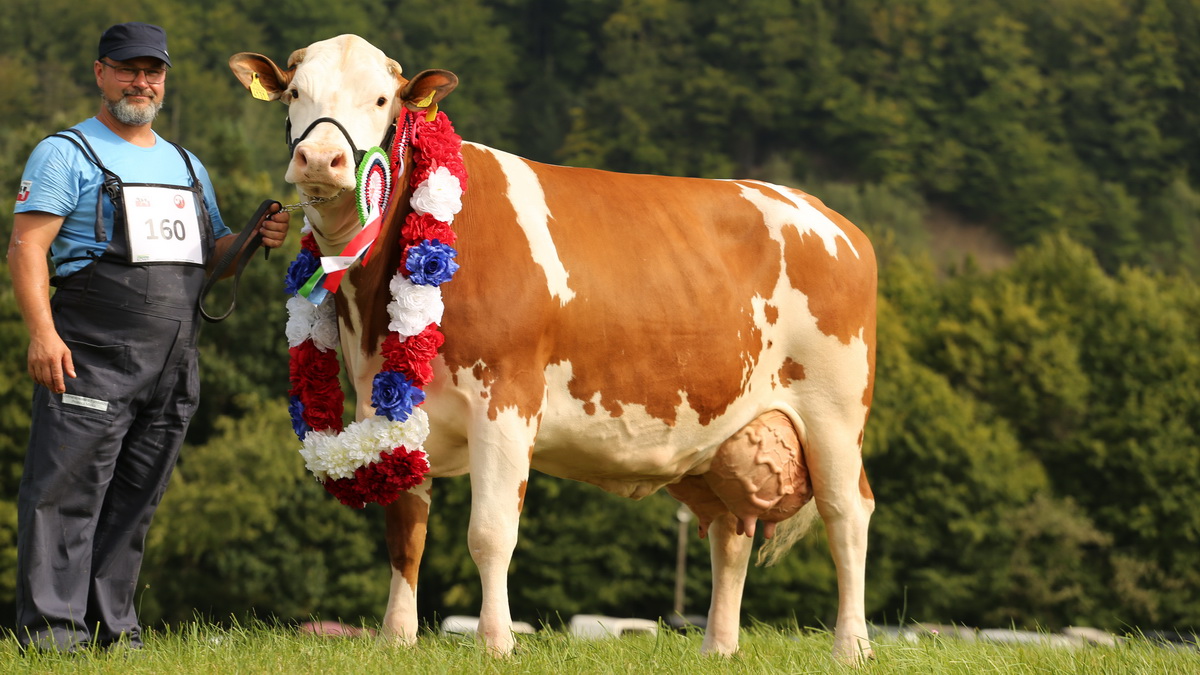
[[[42,141],[18,192],[8,263],[35,387],[17,637],[36,649],[142,645],[145,534],[198,404],[197,300],[235,237],[199,160],[151,129],[170,65],[163,29],[104,31],[100,113]],[[277,247],[288,214],[256,227]]]

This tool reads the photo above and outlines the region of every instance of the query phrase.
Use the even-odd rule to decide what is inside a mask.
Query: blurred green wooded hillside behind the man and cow
[[[1200,626],[1200,0],[11,0],[0,14],[0,184],[95,114],[103,28],[167,28],[156,129],[204,160],[235,231],[282,183],[283,109],[226,61],[359,34],[412,74],[454,70],[468,139],[616,171],[796,185],[881,261],[866,467],[877,622]],[[11,199],[11,197],[10,197]],[[11,207],[12,201],[8,202]],[[0,235],[11,234],[11,208]],[[928,253],[931,214],[1015,250],[984,269]],[[290,252],[298,238],[289,241]],[[287,251],[286,251],[287,252]],[[377,621],[382,513],[305,473],[286,412],[281,280],[250,265],[202,338],[204,395],[151,528],[146,621],[196,613]],[[228,298],[216,298],[218,306]],[[25,333],[0,265],[0,620],[12,622]],[[420,601],[474,614],[466,479],[436,484]],[[517,619],[671,610],[676,503],[535,474]],[[688,604],[708,604],[691,537]],[[744,613],[832,625],[822,534],[754,569]]]

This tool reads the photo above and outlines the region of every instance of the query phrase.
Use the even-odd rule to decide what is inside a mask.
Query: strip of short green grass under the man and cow
[[[220,628],[190,623],[152,632],[139,651],[76,655],[22,653],[11,637],[0,641],[0,673],[113,674],[484,674],[570,675],[592,673],[772,674],[850,673],[830,657],[822,632],[750,628],[733,658],[700,656],[701,634],[661,629],[607,640],[581,640],[564,632],[517,635],[512,657],[484,653],[472,638],[425,635],[416,649],[395,649],[372,638],[301,635],[265,625]],[[1116,647],[1052,649],[931,638],[916,644],[881,641],[863,673],[1103,673],[1146,675],[1200,673],[1200,650],[1170,649],[1147,640]]]

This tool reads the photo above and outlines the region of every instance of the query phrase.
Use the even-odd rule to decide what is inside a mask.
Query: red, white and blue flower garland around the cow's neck
[[[430,423],[418,406],[425,401],[424,387],[433,378],[430,363],[445,340],[438,329],[444,309],[440,286],[458,269],[452,247],[457,235],[450,223],[462,209],[467,187],[462,138],[442,112],[434,117],[406,110],[397,120],[397,126],[401,124],[403,133],[396,135],[391,148],[391,184],[402,191],[398,180],[412,130],[413,211],[401,229],[403,253],[389,283],[389,334],[371,393],[374,416],[343,429],[346,396],[338,381],[334,294],[308,294],[313,279],[322,274],[322,253],[311,232],[301,239],[284,283],[293,294],[287,305],[292,428],[304,442],[300,454],[308,471],[326,491],[354,508],[368,502],[391,503],[400,492],[421,484],[430,470],[422,447]],[[368,173],[361,169],[360,180]],[[368,217],[365,211],[360,208],[362,221]]]

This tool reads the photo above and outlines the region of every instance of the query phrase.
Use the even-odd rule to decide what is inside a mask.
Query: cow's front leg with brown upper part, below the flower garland
[[[432,495],[433,479],[426,477],[424,483],[384,507],[391,587],[383,616],[383,635],[403,645],[416,643],[416,574],[425,552]]]

